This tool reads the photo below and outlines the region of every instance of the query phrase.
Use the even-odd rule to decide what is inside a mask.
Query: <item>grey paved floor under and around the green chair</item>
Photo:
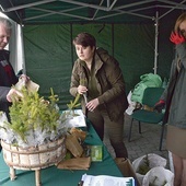
[[[159,151],[160,143],[160,135],[161,135],[161,126],[153,124],[141,124],[142,133],[138,132],[138,123],[133,121],[131,141],[128,142],[128,130],[130,124],[130,116],[125,114],[125,129],[124,129],[124,141],[126,148],[128,150],[129,160],[132,162],[133,160],[146,155],[148,153],[155,153],[162,158],[167,160],[167,168],[168,168],[168,152],[165,149],[165,132],[162,144],[162,151]],[[115,158],[114,150],[109,144],[107,136],[105,135],[104,143],[107,147],[108,152]]]

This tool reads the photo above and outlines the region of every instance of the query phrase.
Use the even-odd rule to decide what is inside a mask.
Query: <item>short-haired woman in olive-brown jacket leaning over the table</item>
[[[128,107],[125,82],[119,63],[95,38],[80,33],[73,45],[78,55],[74,62],[70,93],[83,95],[82,109],[103,140],[104,127],[117,158],[128,158],[124,143],[124,113]]]

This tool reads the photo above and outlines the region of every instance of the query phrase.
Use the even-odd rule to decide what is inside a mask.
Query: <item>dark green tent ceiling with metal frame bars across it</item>
[[[185,10],[186,0],[1,0],[0,11],[22,24],[151,22]]]

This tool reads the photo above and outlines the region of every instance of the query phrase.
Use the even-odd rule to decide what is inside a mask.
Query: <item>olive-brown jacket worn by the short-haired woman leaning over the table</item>
[[[100,93],[97,97],[98,102],[101,105],[105,106],[111,120],[117,120],[120,115],[124,115],[124,112],[128,107],[125,82],[119,63],[103,48],[95,50],[94,61],[96,86]],[[70,84],[70,93],[73,96],[77,95],[77,88],[80,82],[84,82],[84,85],[86,85],[88,78],[83,61],[78,59],[72,69]],[[85,113],[83,98],[81,105]]]

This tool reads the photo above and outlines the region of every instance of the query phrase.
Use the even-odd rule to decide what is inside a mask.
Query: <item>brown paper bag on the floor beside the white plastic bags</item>
[[[129,159],[116,158],[115,162],[118,168],[120,170],[120,172],[123,173],[124,177],[133,177],[137,186],[140,186],[140,183],[138,182],[137,175],[132,168],[132,165]]]

